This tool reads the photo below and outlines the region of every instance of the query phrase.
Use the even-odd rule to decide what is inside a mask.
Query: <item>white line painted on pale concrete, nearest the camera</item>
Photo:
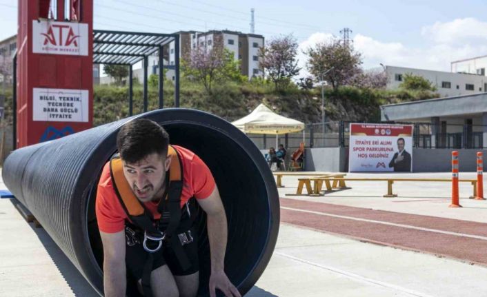
[[[335,268],[335,267],[330,267],[330,266],[326,266],[326,265],[321,265],[321,264],[318,264],[318,263],[310,262],[308,260],[304,260],[304,259],[301,259],[301,258],[297,258],[295,256],[291,256],[291,255],[284,254],[284,253],[281,253],[281,252],[274,252],[274,254],[277,254],[279,256],[283,256],[283,257],[286,257],[286,258],[290,258],[292,260],[295,260],[295,261],[298,261],[298,262],[301,262],[301,263],[306,263],[308,265],[312,265],[312,266],[315,266],[315,267],[319,267],[319,268],[322,268],[322,269],[326,269],[326,270],[329,270],[330,272],[335,272],[336,274],[341,274],[342,276],[346,276],[348,278],[352,278],[353,280],[359,280],[362,283],[377,285],[378,287],[386,287],[388,289],[395,289],[396,291],[401,291],[402,293],[409,294],[410,296],[432,297],[431,295],[427,295],[427,294],[424,294],[424,293],[420,293],[418,291],[413,291],[413,290],[410,290],[410,289],[406,289],[404,287],[399,287],[397,285],[392,285],[392,284],[389,284],[389,283],[384,283],[384,282],[381,282],[380,280],[374,280],[372,278],[366,278],[365,276],[361,276],[359,274],[354,274],[353,272],[346,272],[345,270],[341,270],[341,269],[338,269],[338,268]]]

